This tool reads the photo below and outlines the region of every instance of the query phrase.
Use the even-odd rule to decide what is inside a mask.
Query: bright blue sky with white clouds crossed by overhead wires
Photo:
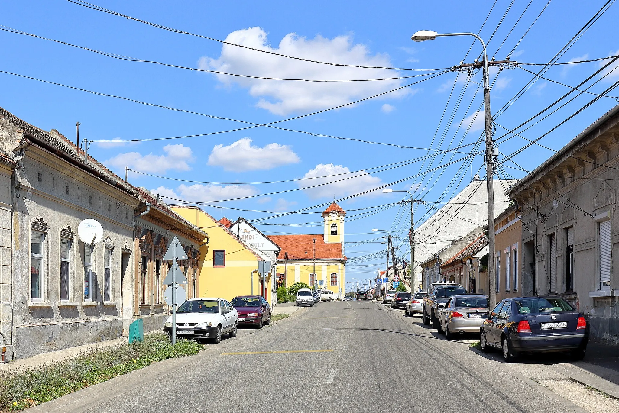
[[[301,58],[360,66],[439,69],[452,67],[463,59],[471,62],[480,53],[480,46],[475,44],[467,55],[472,38],[449,37],[414,43],[410,40],[413,32],[420,29],[478,32],[483,24],[480,35],[487,41],[491,39],[488,42],[490,58],[494,56],[496,60],[501,60],[514,50],[512,60],[547,63],[605,1],[552,0],[527,35],[522,37],[547,3],[547,0],[479,1],[474,5],[470,2],[379,4],[357,1],[335,4],[313,2],[311,5],[304,3],[291,6],[290,2],[276,1],[238,1],[233,5],[230,2],[200,1],[106,1],[98,6],[185,32],[220,40],[228,38],[232,43]],[[610,6],[558,61],[579,61],[619,54],[616,24],[613,24],[617,21],[618,10],[617,6]],[[383,79],[423,73],[329,66],[280,58],[235,46],[222,48],[222,43],[217,41],[172,33],[123,17],[93,11],[66,0],[4,2],[0,24],[2,28],[10,27],[122,56],[251,76],[342,80]],[[337,83],[243,79],[157,64],[121,61],[15,33],[0,32],[0,38],[1,71],[257,124],[324,110],[423,79],[414,77]],[[535,72],[541,68],[523,67]],[[614,67],[609,66],[608,69]],[[543,76],[575,86],[599,68],[599,62],[554,66]],[[618,72],[602,72],[607,76],[601,80],[600,76],[594,77],[592,82],[599,82],[590,91],[599,93],[607,89],[619,79]],[[496,71],[491,75],[491,80],[495,81]],[[480,128],[483,127],[482,119],[475,116],[482,105],[481,89],[478,89],[477,84],[481,76],[475,73],[468,82],[467,74],[461,73],[457,79],[456,76],[456,72],[446,72],[434,79],[357,105],[279,123],[277,126],[397,146],[431,146],[433,150],[430,153],[436,152],[436,149],[471,144],[479,139],[482,133]],[[518,67],[501,71],[491,91],[493,113],[500,110],[532,77]],[[4,73],[0,73],[0,79],[3,86],[0,106],[39,128],[58,129],[70,139],[75,137],[76,121],[82,123],[80,137],[92,141],[187,136],[244,126],[233,121],[149,107]],[[563,85],[538,79],[495,119],[500,125],[496,127],[495,137],[504,133],[501,127],[517,126],[568,90]],[[612,91],[608,95],[616,97],[619,92]],[[522,135],[534,139],[546,133],[593,97],[581,95]],[[601,98],[540,143],[559,149],[616,103],[612,97]],[[440,121],[443,112],[445,115],[443,121]],[[526,141],[522,138],[513,137],[500,144],[500,152],[503,155],[510,154],[524,144]],[[470,182],[472,175],[483,168],[482,157],[477,155],[472,161],[468,159],[470,162],[467,163],[456,162],[436,173],[409,177],[465,157],[472,147],[461,149],[461,152],[465,152],[462,154],[449,152],[444,157],[433,157],[423,165],[416,162],[402,166],[404,161],[424,157],[428,150],[261,127],[168,141],[114,145],[93,142],[90,154],[105,161],[119,174],[128,165],[132,169],[167,178],[222,183],[183,183],[130,173],[129,181],[134,185],[157,189],[172,198],[209,201],[212,206],[279,214],[325,204],[334,197],[340,199],[352,196],[395,181],[400,182],[392,188],[413,188],[416,198],[431,202],[448,201]],[[531,147],[514,160],[522,168],[532,170],[551,154],[550,150]],[[396,168],[372,169],[398,162],[392,165]],[[516,165],[506,163],[506,166]],[[348,173],[354,171],[365,173]],[[515,177],[524,174],[510,168],[505,168],[505,171]],[[298,178],[333,174],[346,175],[298,181]],[[350,179],[327,185],[329,181],[343,177]],[[256,183],[272,181],[287,182]],[[308,183],[319,185],[304,189],[310,185]],[[252,198],[214,202],[244,196]],[[347,266],[349,280],[353,277],[368,279],[377,267],[384,267],[384,246],[379,243],[377,235],[371,233],[371,228],[393,230],[394,234],[402,237],[401,240],[405,240],[408,207],[389,206],[400,199],[397,194],[385,195],[371,191],[365,196],[355,196],[340,202],[349,211],[345,228],[348,234],[345,249],[348,258],[351,258]],[[374,206],[385,207],[370,208]],[[258,220],[256,225],[266,233],[320,233],[322,227],[316,222],[321,220],[319,212],[324,206],[304,211],[316,212],[314,214],[290,214],[267,220],[266,217],[274,214],[208,206],[205,209],[218,218],[225,215],[235,219],[241,215],[246,219]],[[417,222],[423,222],[431,212],[426,206],[418,206],[415,212]],[[408,255],[405,244],[400,245],[399,256]]]

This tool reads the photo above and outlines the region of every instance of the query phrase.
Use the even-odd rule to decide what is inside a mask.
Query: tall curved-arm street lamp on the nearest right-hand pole
[[[490,80],[488,74],[488,54],[486,53],[486,44],[482,38],[475,33],[436,33],[431,30],[420,30],[412,35],[411,40],[425,41],[435,40],[437,37],[444,36],[472,36],[482,43],[483,47],[483,113],[485,118],[485,134],[486,134],[486,175],[487,175],[487,190],[488,190],[488,256],[493,256],[495,252],[495,192],[493,184],[494,175],[494,145],[492,142],[492,115],[490,113]],[[495,261],[488,259],[488,295],[490,295],[490,308],[496,305],[496,277],[495,277]]]

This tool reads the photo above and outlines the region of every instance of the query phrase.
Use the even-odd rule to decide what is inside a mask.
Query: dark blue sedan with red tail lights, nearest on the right
[[[506,362],[521,352],[556,351],[581,360],[589,341],[587,321],[559,297],[506,298],[488,313],[480,333],[482,350],[501,349]]]

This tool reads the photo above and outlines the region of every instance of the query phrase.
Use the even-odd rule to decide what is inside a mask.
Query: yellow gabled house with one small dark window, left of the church
[[[228,228],[195,206],[174,206],[176,214],[209,234],[207,243],[200,247],[200,297],[221,297],[232,300],[237,295],[262,295],[269,302],[271,274],[262,280],[258,261],[269,261]],[[205,240],[206,242],[206,240]]]

